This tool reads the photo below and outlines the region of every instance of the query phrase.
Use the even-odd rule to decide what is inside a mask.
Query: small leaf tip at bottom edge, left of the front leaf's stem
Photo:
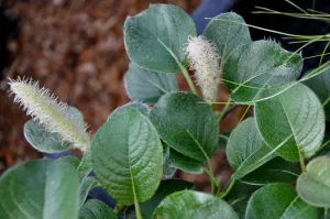
[[[113,210],[102,201],[90,199],[79,210],[79,219],[117,219]]]

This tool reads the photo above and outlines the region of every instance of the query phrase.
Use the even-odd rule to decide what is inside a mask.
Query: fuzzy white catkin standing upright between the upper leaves
[[[185,52],[204,98],[207,101],[217,101],[222,73],[217,47],[204,36],[189,36]]]

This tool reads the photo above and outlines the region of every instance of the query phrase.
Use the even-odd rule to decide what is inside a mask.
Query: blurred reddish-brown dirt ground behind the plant
[[[8,1],[10,13],[20,19],[19,39],[8,42],[11,65],[6,77],[32,77],[58,98],[77,107],[94,134],[109,113],[129,100],[122,78],[129,59],[123,45],[123,22],[150,3],[173,3],[188,13],[199,0],[30,0]],[[185,81],[179,78],[183,89]],[[8,96],[8,80],[0,81],[0,173],[22,161],[41,157],[23,136],[29,119]],[[222,89],[220,100],[228,91]],[[229,131],[243,113],[238,108],[222,122]],[[223,152],[213,160],[219,177],[231,169]],[[207,177],[182,174],[182,177],[207,183]],[[207,189],[207,188],[206,188]]]

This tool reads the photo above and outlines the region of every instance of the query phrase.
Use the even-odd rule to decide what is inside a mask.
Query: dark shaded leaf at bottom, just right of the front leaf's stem
[[[147,201],[140,204],[141,216],[143,219],[152,219],[154,210],[160,205],[160,202],[168,195],[186,189],[193,189],[194,184],[182,180],[182,179],[167,179],[162,180],[160,187],[157,188],[155,195]],[[135,218],[135,212],[132,209],[129,209],[129,219]],[[128,215],[127,215],[128,216]]]

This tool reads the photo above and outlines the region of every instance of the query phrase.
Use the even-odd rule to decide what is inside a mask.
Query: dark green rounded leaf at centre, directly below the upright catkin
[[[150,119],[162,140],[186,156],[207,161],[217,150],[218,120],[211,107],[196,95],[172,92],[162,96]]]

